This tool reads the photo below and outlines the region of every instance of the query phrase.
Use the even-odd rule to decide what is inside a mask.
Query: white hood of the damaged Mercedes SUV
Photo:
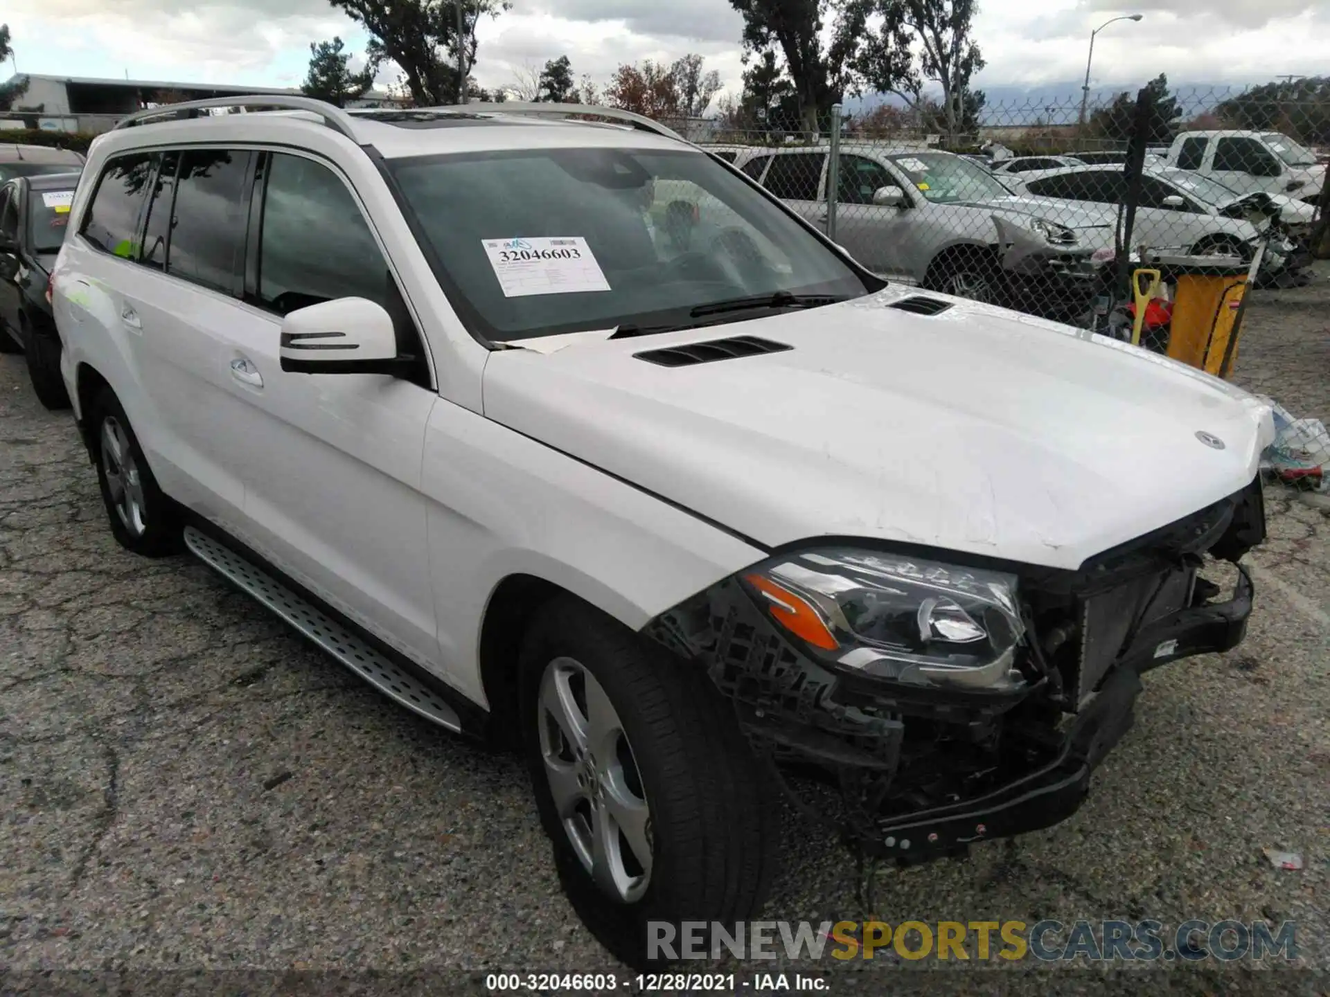
[[[766,545],[874,537],[1056,568],[1244,488],[1274,436],[1264,403],[1192,368],[972,302],[886,307],[912,294],[493,352],[485,416]],[[793,348],[634,356],[739,335]]]

